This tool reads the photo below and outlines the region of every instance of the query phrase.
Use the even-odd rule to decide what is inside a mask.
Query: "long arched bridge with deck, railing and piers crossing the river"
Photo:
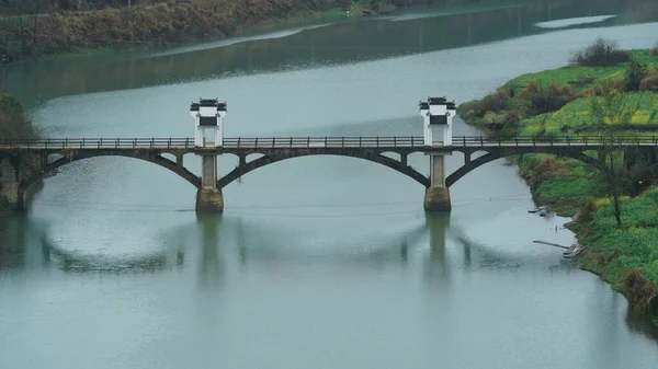
[[[610,141],[602,137],[515,137],[503,140],[464,136],[453,137],[450,147],[426,146],[422,137],[225,138],[222,147],[213,148],[195,147],[192,138],[0,140],[0,197],[20,210],[24,208],[24,194],[30,186],[56,173],[57,169],[90,158],[125,157],[163,166],[196,187],[197,211],[222,211],[222,188],[251,171],[291,158],[340,155],[375,162],[407,175],[427,188],[427,210],[450,210],[449,187],[470,171],[496,159],[540,152],[604,168],[601,154],[610,150],[636,150],[655,161],[656,149],[656,137]],[[408,157],[418,152],[431,158],[429,176],[408,164]],[[453,152],[464,154],[464,164],[445,175],[442,158]],[[201,176],[185,169],[185,154],[202,157]],[[236,155],[238,165],[218,177],[217,157],[222,154]],[[250,160],[252,154],[258,158]]]

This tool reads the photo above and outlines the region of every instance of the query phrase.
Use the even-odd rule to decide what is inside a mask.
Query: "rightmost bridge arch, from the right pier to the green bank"
[[[484,150],[480,149],[477,152],[480,152],[480,151],[484,151]],[[503,150],[490,150],[490,151],[486,151],[486,153],[484,155],[480,155],[474,160],[470,160],[470,155],[473,153],[475,153],[475,151],[464,152],[466,162],[464,165],[458,168],[456,171],[451,173],[445,178],[445,185],[447,187],[454,185],[458,180],[464,177],[466,174],[473,172],[477,168],[479,168],[488,162],[491,162],[491,161],[498,160],[498,159],[502,159],[502,158],[525,154],[525,153],[544,153],[544,154],[553,154],[553,155],[561,157],[561,158],[570,158],[570,159],[581,161],[581,162],[583,162],[588,165],[591,165],[598,170],[606,170],[606,166],[603,165],[598,159],[586,155],[585,150],[556,151],[553,148],[546,148],[546,150],[536,150],[535,149],[533,151],[527,151],[527,152],[507,152]]]

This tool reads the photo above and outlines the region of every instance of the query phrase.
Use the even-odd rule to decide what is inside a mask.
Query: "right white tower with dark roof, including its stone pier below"
[[[450,151],[432,151],[432,148],[452,147],[452,119],[456,114],[455,103],[445,97],[428,97],[419,103],[423,118],[423,140],[430,155],[430,186],[426,189],[424,209],[450,211],[450,189],[445,184],[445,155]]]

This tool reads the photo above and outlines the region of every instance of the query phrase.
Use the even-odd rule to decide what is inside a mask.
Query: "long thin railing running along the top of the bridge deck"
[[[658,146],[658,136],[455,136],[452,147],[628,147]],[[237,137],[224,138],[230,149],[254,148],[426,148],[422,137]],[[213,145],[208,145],[212,147]],[[434,147],[441,147],[440,142]],[[0,149],[193,149],[193,138],[50,138],[0,139]]]

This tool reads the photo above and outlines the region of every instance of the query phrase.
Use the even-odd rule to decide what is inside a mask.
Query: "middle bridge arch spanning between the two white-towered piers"
[[[338,152],[337,151],[333,153],[322,153],[322,152],[313,152],[313,151],[293,151],[293,152],[286,152],[285,154],[265,153],[263,157],[253,159],[250,162],[246,162],[246,160],[243,159],[245,157],[241,157],[240,163],[238,164],[238,166],[217,181],[217,188],[223,188],[223,187],[227,186],[228,184],[230,184],[231,182],[236,181],[237,178],[241,177],[242,175],[250,173],[259,168],[265,166],[268,164],[276,163],[280,161],[287,160],[287,159],[311,157],[311,155],[348,157],[348,158],[356,158],[356,159],[371,161],[371,162],[378,163],[384,166],[390,168],[401,174],[405,174],[408,177],[415,180],[416,182],[420,183],[421,185],[423,185],[426,187],[430,186],[430,180],[426,175],[418,172],[413,168],[407,165],[406,159],[407,159],[408,153],[400,153],[400,152],[396,152],[396,151],[387,151],[387,152],[399,153],[401,161],[397,161],[395,159],[384,157],[379,152],[356,152],[356,151],[354,151],[354,152]]]

